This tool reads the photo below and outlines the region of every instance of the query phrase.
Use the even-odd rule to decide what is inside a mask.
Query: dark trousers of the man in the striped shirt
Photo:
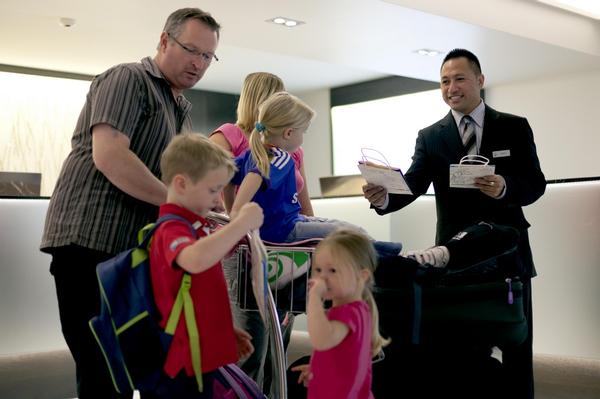
[[[77,245],[54,248],[50,273],[54,276],[60,323],[75,360],[77,395],[88,398],[131,398],[117,393],[88,321],[100,311],[96,265],[112,257]]]

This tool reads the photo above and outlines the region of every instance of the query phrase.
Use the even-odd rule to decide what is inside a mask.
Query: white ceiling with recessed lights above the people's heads
[[[437,81],[455,47],[479,56],[488,86],[600,70],[600,21],[534,0],[2,0],[0,64],[98,74],[154,55],[167,15],[189,6],[222,25],[220,61],[196,86],[205,90],[237,93],[253,71],[293,92],[389,75]],[[265,22],[275,16],[306,23]]]

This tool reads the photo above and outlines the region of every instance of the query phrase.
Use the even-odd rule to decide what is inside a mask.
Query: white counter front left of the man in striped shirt
[[[0,356],[66,348],[49,255],[47,199],[0,199]]]

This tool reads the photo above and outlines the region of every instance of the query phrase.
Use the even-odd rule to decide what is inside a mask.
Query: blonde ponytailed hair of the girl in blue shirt
[[[258,170],[268,177],[270,172],[269,154],[265,144],[270,144],[274,137],[283,136],[286,129],[308,129],[315,116],[306,103],[298,97],[284,91],[271,95],[259,107],[257,125],[261,131],[252,130],[250,150]]]

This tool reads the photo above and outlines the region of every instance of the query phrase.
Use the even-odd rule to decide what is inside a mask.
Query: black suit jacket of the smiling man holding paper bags
[[[494,157],[494,152],[510,152]],[[535,202],[546,189],[540,168],[533,132],[527,119],[485,107],[480,155],[496,166],[495,173],[506,181],[506,194],[494,199],[477,189],[449,187],[450,164],[466,155],[456,122],[449,112],[445,118],[419,131],[413,162],[405,174],[414,195],[390,194],[386,214],[405,207],[424,194],[431,183],[435,190],[437,226],[436,244],[442,245],[457,232],[479,221],[515,227],[521,233],[519,251],[524,275],[532,277],[535,268],[531,257],[522,206]]]

